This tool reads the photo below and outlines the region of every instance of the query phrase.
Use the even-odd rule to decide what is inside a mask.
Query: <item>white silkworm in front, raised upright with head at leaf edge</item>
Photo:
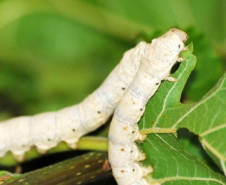
[[[109,131],[109,162],[118,185],[149,184],[145,176],[152,168],[138,163],[145,156],[135,144],[136,140],[144,140],[137,122],[161,81],[169,77],[186,40],[187,34],[174,28],[147,44],[142,57],[136,56],[141,60],[139,70],[115,110]]]

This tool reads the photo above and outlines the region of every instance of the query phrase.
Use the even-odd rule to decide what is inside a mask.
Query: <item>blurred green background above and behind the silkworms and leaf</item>
[[[127,49],[172,27],[194,42],[183,100],[197,101],[225,70],[225,0],[0,0],[0,118],[80,102]]]

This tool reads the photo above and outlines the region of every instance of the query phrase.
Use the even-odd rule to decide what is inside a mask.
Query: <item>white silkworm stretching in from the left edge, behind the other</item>
[[[142,42],[127,51],[103,84],[80,104],[0,122],[0,157],[11,151],[22,161],[32,146],[44,153],[61,141],[76,148],[81,136],[100,127],[112,115],[137,73],[139,57],[145,50]]]

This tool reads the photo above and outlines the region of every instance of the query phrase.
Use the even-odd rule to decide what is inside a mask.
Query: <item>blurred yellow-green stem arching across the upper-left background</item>
[[[90,3],[74,0],[21,0],[19,3],[17,0],[3,1],[0,3],[0,29],[23,16],[37,12],[60,13],[89,28],[127,42],[134,41],[142,33],[152,33],[148,26],[117,16]]]

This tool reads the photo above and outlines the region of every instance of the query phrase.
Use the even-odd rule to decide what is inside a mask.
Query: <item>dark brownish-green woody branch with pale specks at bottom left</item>
[[[106,159],[106,152],[89,152],[25,174],[12,175],[0,172],[0,184],[69,185],[91,182],[109,184],[111,172],[103,168]]]

